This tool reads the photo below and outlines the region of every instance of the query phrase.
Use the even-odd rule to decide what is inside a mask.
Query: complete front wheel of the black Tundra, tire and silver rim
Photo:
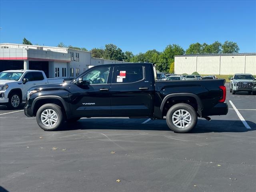
[[[61,107],[56,104],[44,104],[36,113],[36,122],[45,131],[58,129],[64,122]]]

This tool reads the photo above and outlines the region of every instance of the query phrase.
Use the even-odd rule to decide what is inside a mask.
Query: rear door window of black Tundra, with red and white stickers
[[[116,67],[114,83],[133,83],[144,79],[143,66]]]

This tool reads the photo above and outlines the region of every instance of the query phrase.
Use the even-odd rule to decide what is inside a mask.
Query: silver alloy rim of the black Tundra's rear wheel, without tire
[[[186,128],[191,124],[191,114],[184,109],[179,109],[172,115],[172,122],[178,128]]]

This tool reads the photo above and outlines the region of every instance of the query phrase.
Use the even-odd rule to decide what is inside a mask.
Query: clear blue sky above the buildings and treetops
[[[256,1],[0,1],[0,42],[85,47],[116,44],[134,54],[168,44],[226,40],[256,52]]]

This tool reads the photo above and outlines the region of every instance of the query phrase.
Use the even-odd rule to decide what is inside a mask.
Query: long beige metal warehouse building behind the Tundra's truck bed
[[[174,63],[176,74],[256,75],[256,53],[179,55]]]

